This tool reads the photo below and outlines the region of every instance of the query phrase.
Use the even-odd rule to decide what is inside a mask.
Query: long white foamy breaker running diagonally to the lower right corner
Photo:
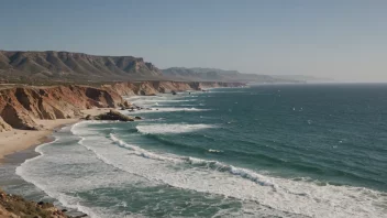
[[[115,140],[119,139],[115,138]],[[121,143],[124,142],[121,141]],[[132,149],[136,150],[139,148],[132,146]],[[162,160],[162,163],[151,162],[151,165],[148,165],[147,162],[140,161],[145,165],[131,167],[125,164],[124,168],[128,172],[135,172],[150,179],[162,181],[175,187],[253,200],[274,209],[303,216],[384,216],[383,208],[375,206],[375,204],[383,204],[384,200],[387,200],[387,197],[383,193],[367,188],[320,186],[311,182],[270,177],[217,161],[170,156],[170,154],[167,155],[168,159],[164,157],[164,154],[157,154],[156,160]],[[170,164],[189,163],[201,167],[175,172],[167,166],[169,161]],[[206,168],[211,168],[212,173],[208,174]]]

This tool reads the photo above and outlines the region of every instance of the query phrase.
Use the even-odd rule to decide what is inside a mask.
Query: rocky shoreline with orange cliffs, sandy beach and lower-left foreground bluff
[[[146,110],[146,108],[140,108],[125,101],[121,96],[153,96],[161,92],[173,94],[235,86],[242,86],[242,84],[144,81],[136,84],[114,83],[100,87],[71,85],[0,89],[0,135],[7,139],[5,141],[0,140],[0,159],[37,144],[38,141],[48,137],[55,128],[82,119],[119,121],[142,119],[141,117],[125,116],[115,110]],[[33,138],[36,138],[36,142]],[[18,142],[26,145],[5,150],[5,153],[1,150],[1,146],[4,145],[16,146]],[[56,208],[52,204],[29,201],[23,197],[9,195],[4,192],[0,192],[0,217],[69,217],[66,215],[66,210]]]

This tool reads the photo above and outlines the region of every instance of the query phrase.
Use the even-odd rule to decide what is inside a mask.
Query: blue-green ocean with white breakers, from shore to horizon
[[[152,110],[65,127],[2,185],[91,217],[387,217],[386,84],[128,99]]]

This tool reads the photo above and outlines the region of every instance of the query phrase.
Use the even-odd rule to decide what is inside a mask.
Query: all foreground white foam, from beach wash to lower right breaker
[[[96,208],[85,209],[78,198],[66,193],[120,184],[144,184],[133,182],[140,179],[136,176],[146,179],[146,185],[162,183],[241,199],[243,210],[252,217],[267,212],[256,210],[256,204],[269,208],[269,211],[284,211],[285,217],[289,214],[299,217],[386,217],[385,193],[361,187],[321,186],[308,181],[263,175],[218,161],[156,153],[126,143],[114,134],[104,138],[86,126],[87,123],[78,124],[73,128],[73,132],[81,137],[79,143],[92,152],[85,152],[87,150],[82,151],[84,146],[79,145],[46,146],[42,149],[41,156],[26,161],[18,171],[24,179],[34,183],[52,197],[88,212],[91,217],[107,217],[109,214]],[[49,154],[45,155],[46,151]],[[65,167],[75,163],[79,164],[78,167]],[[74,173],[62,172],[62,167]],[[276,216],[268,216],[270,215]],[[109,217],[114,216],[110,214]]]

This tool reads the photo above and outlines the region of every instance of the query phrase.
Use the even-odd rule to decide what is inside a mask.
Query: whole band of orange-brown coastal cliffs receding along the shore
[[[81,116],[90,108],[128,107],[121,96],[203,90],[214,87],[240,87],[240,83],[140,81],[112,83],[98,87],[62,85],[23,86],[0,90],[0,132],[14,129],[37,130],[36,119],[55,120]]]

